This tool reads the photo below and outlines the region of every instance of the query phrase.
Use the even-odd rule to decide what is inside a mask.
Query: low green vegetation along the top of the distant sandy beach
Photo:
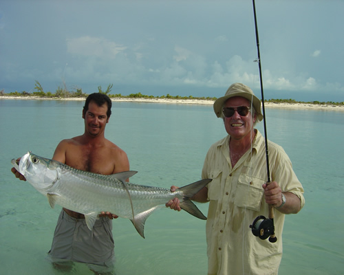
[[[45,92],[43,90],[43,87],[39,81],[35,80],[35,85],[34,85],[34,92],[30,93],[27,91],[22,91],[19,93],[18,91],[11,92],[10,94],[5,94],[3,90],[0,91],[0,97],[1,96],[19,96],[19,97],[39,97],[39,98],[86,98],[87,94],[83,93],[83,89],[81,88],[74,88],[72,91],[68,91],[67,87],[63,85],[64,87],[61,88],[60,86],[57,87],[55,93],[53,94],[50,91]],[[201,97],[197,98],[194,96],[171,96],[170,94],[166,94],[166,96],[146,96],[141,94],[140,92],[136,94],[129,94],[129,96],[122,96],[122,94],[110,94],[111,89],[113,87],[113,84],[109,84],[107,86],[107,89],[103,91],[101,86],[98,86],[98,92],[100,94],[106,94],[109,96],[109,98],[149,98],[149,99],[154,99],[154,98],[162,98],[162,99],[174,99],[174,100],[217,100],[215,97]],[[270,103],[303,103],[303,104],[317,104],[317,105],[336,105],[336,106],[344,106],[344,102],[319,102],[319,101],[312,101],[312,102],[302,102],[302,101],[297,101],[294,99],[269,99],[265,100],[265,102],[270,102]]]

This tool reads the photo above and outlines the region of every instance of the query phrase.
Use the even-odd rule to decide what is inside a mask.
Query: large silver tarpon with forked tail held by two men
[[[89,230],[92,230],[98,214],[108,211],[118,217],[130,219],[144,238],[146,219],[174,197],[180,199],[180,208],[199,219],[206,219],[190,198],[211,179],[202,179],[171,192],[166,188],[128,183],[126,180],[135,175],[136,171],[100,175],[78,170],[31,152],[21,157],[19,165],[12,159],[12,165],[36,190],[47,196],[52,208],[57,203],[84,214]]]

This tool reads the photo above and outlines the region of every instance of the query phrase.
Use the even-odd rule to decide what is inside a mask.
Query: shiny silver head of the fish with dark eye
[[[52,159],[39,157],[31,152],[21,157],[19,172],[39,192],[46,195],[58,179],[58,162]]]

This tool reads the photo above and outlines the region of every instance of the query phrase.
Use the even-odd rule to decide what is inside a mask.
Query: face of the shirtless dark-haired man
[[[109,122],[107,118],[107,104],[98,106],[94,101],[89,102],[88,109],[83,113],[85,119],[85,131],[90,135],[97,136],[104,133],[105,126]]]

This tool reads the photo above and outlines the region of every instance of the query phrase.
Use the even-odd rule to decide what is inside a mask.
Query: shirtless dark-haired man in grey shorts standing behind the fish
[[[111,115],[111,100],[105,94],[91,94],[83,107],[85,132],[62,140],[52,159],[80,170],[111,175],[129,170],[125,151],[105,138]],[[12,173],[25,180],[15,168]],[[105,209],[106,210],[106,209]],[[94,229],[87,228],[83,214],[63,208],[56,225],[49,255],[53,263],[77,261],[91,264],[94,271],[111,270],[114,264],[112,221],[116,214],[103,212]],[[98,269],[97,267],[105,267]]]

